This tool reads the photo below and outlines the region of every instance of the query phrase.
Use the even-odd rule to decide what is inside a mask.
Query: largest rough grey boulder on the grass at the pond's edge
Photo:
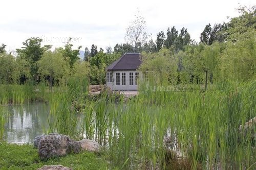
[[[61,134],[37,136],[34,140],[34,147],[38,148],[41,159],[64,156],[71,152],[78,153],[80,151],[78,142]]]

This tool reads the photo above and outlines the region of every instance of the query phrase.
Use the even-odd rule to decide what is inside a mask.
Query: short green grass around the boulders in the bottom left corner
[[[72,169],[114,169],[104,156],[89,152],[41,161],[37,149],[29,144],[17,145],[0,142],[0,151],[0,169],[37,169],[43,165],[58,164]]]

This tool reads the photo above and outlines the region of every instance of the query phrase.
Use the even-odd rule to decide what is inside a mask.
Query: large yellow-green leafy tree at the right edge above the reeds
[[[223,80],[248,81],[256,78],[255,34],[255,31],[247,32],[237,37],[236,43],[226,43],[220,62]]]

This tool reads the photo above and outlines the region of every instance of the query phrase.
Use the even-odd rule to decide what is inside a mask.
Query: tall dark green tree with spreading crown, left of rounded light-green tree
[[[34,78],[34,81],[39,81],[37,61],[41,59],[44,52],[51,48],[51,45],[41,46],[41,42],[42,39],[32,37],[23,42],[24,46],[22,49],[17,49],[18,56],[29,62],[31,76]]]

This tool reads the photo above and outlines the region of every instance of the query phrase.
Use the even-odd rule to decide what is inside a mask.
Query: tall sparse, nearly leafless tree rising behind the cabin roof
[[[146,32],[146,21],[138,13],[135,15],[135,20],[131,22],[130,26],[126,29],[125,38],[134,47],[134,52],[138,52],[138,45],[143,44],[148,37]]]

